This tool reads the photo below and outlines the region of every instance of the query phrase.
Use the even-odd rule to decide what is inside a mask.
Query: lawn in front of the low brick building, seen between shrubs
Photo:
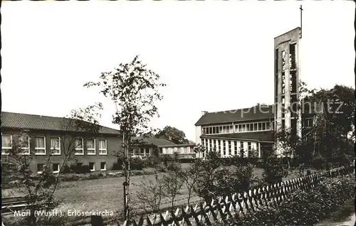
[[[182,163],[184,168],[189,166],[189,163]],[[261,178],[263,169],[254,168],[253,174]],[[162,175],[162,173],[160,173]],[[140,183],[149,179],[154,179],[154,175],[148,176],[131,176],[130,193],[135,197],[135,193],[140,190]],[[65,213],[68,210],[80,211],[112,211],[115,217],[118,217],[118,212],[122,211],[123,207],[123,189],[122,183],[125,178],[100,178],[90,181],[65,181],[58,185],[55,197],[61,202],[58,210]],[[16,188],[1,190],[3,197],[21,195]],[[182,188],[181,193],[177,196],[176,205],[187,204],[187,188]],[[200,200],[199,197],[192,197],[192,202]],[[162,200],[162,208],[169,207],[168,199]],[[132,198],[132,206],[140,208],[140,203]],[[75,217],[78,218],[78,217]],[[74,220],[73,217],[68,217],[68,220]]]

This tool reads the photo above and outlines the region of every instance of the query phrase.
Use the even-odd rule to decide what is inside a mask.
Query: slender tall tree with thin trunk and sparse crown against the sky
[[[150,119],[159,116],[155,102],[163,97],[159,75],[147,68],[138,55],[130,63],[120,63],[115,70],[103,72],[98,82],[87,82],[84,87],[99,87],[100,93],[116,106],[112,123],[120,126],[124,144],[124,198],[125,220],[130,220],[130,153],[132,137],[147,130]]]

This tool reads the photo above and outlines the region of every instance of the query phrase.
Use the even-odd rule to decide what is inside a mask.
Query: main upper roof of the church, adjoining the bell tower
[[[196,126],[204,124],[221,124],[227,122],[252,121],[274,118],[273,105],[260,105],[224,112],[209,112],[201,116]]]

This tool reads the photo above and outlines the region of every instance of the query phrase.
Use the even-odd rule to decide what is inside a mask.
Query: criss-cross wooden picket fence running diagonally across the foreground
[[[244,217],[247,212],[256,212],[262,207],[278,205],[286,195],[293,190],[309,190],[320,184],[324,178],[352,173],[353,166],[342,166],[328,171],[321,171],[290,179],[266,187],[248,190],[244,193],[234,193],[224,198],[217,198],[211,203],[201,202],[197,205],[187,205],[176,211],[166,211],[160,214],[141,216],[139,219],[124,222],[129,225],[212,225],[213,222],[225,223],[230,217]],[[98,225],[98,224],[93,224]]]

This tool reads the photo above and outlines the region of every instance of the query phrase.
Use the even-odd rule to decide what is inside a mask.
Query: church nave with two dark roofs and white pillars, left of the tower
[[[202,112],[195,124],[197,143],[206,151],[231,156],[261,158],[263,149],[271,149],[274,129],[273,106],[255,106],[226,112]],[[204,158],[206,153],[197,154]]]

